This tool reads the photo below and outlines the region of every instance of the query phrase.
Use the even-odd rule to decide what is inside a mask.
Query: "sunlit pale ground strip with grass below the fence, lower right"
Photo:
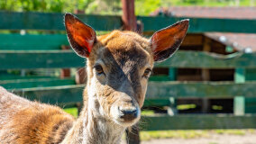
[[[255,130],[167,130],[154,134],[142,131],[141,136],[142,144],[256,144]]]

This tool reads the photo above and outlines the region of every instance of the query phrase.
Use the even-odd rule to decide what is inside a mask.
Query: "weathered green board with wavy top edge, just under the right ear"
[[[204,68],[234,68],[256,67],[256,53],[234,53],[231,55],[218,55],[210,52],[178,51],[172,58],[156,67],[204,67]]]

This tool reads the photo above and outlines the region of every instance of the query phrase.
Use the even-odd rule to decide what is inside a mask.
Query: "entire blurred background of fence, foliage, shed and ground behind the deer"
[[[0,0],[0,85],[78,117],[87,74],[84,59],[70,50],[64,13],[78,14],[97,35],[118,29],[147,38],[189,18],[177,54],[155,65],[128,143],[256,144],[255,6],[256,0]]]

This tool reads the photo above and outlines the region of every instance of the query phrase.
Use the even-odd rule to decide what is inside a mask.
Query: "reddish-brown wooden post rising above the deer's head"
[[[136,31],[137,23],[134,14],[134,0],[122,0],[123,5],[123,30]]]

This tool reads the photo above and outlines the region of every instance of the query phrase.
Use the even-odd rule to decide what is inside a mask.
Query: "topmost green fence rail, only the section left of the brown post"
[[[0,12],[0,29],[63,31],[65,30],[63,15],[59,13]],[[120,16],[78,14],[78,18],[93,26],[96,31],[111,31],[122,26]]]

